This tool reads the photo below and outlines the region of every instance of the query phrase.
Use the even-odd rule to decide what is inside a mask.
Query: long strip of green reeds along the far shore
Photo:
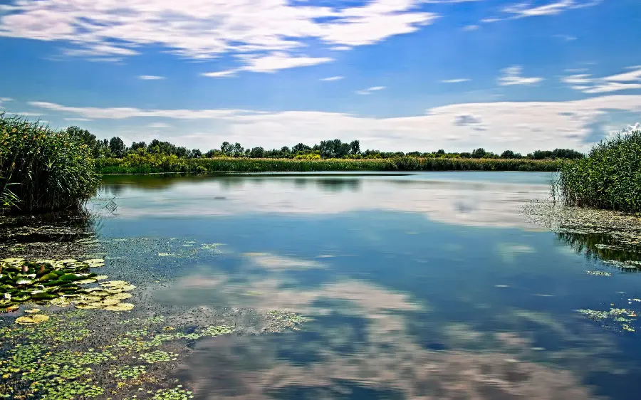
[[[314,171],[558,171],[561,160],[446,159],[397,157],[390,159],[247,159],[175,156],[98,159],[100,174],[157,172],[314,172]]]

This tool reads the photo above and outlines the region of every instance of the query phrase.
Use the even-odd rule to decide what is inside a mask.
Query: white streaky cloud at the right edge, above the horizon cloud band
[[[591,74],[581,73],[561,78],[570,88],[583,93],[612,93],[619,90],[641,89],[641,65],[627,67],[629,72],[618,73],[602,78],[593,78]]]

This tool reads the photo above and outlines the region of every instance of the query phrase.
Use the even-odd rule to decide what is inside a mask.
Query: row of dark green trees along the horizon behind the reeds
[[[361,151],[360,142],[342,142],[339,139],[323,140],[319,144],[308,146],[298,143],[292,147],[281,147],[280,149],[264,149],[263,147],[244,148],[240,143],[223,142],[219,149],[210,149],[203,153],[200,149],[187,149],[176,146],[170,142],[162,142],[154,139],[149,144],[145,142],[133,142],[129,147],[120,137],[112,137],[110,140],[100,140],[88,130],[80,127],[68,127],[68,134],[77,137],[81,142],[87,144],[90,152],[95,158],[123,158],[127,154],[162,154],[174,155],[179,158],[214,158],[214,157],[246,157],[246,158],[293,158],[293,159],[378,159],[392,157],[442,157],[442,158],[494,158],[494,159],[580,159],[583,153],[573,149],[536,150],[535,152],[523,155],[512,150],[505,150],[501,154],[487,152],[483,148],[474,149],[472,152],[445,152],[439,149],[436,152],[380,152],[375,149]]]

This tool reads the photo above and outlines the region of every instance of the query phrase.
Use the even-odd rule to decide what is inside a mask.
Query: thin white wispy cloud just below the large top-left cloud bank
[[[330,61],[333,61],[333,58],[290,56],[288,53],[278,51],[261,57],[243,56],[242,60],[246,63],[246,65],[242,67],[231,70],[203,73],[202,75],[209,78],[224,78],[226,76],[236,75],[236,73],[243,70],[258,73],[273,73],[277,70],[288,68],[308,67],[311,65],[329,63]]]

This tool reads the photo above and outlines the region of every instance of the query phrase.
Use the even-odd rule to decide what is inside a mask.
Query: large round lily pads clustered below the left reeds
[[[108,278],[90,272],[90,268],[105,265],[100,258],[78,261],[25,260],[5,258],[0,260],[0,312],[19,309],[21,303],[35,302],[39,305],[79,309],[103,309],[128,311],[134,305],[122,300],[131,298],[127,293],[136,287],[124,280],[111,280],[94,287],[89,285]],[[16,322],[31,324],[46,320],[45,315],[20,317]]]

